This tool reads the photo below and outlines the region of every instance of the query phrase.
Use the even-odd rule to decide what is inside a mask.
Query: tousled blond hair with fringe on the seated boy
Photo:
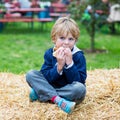
[[[79,27],[73,19],[69,17],[61,17],[53,25],[51,31],[52,41],[55,42],[57,36],[67,36],[69,33],[72,34],[77,41],[80,35]]]

